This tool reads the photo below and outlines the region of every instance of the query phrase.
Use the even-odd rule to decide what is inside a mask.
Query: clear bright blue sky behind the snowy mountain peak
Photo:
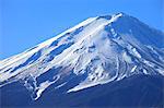
[[[164,29],[163,7],[164,0],[0,0],[0,60],[90,16],[125,12]]]

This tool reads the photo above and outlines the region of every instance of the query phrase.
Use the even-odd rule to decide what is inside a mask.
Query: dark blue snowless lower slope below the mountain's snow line
[[[164,107],[164,77],[161,75],[133,75],[119,82],[114,81],[69,94],[54,89],[52,85],[50,88],[51,91],[43,93],[42,98],[33,101],[21,83],[5,85],[1,87],[1,108]]]

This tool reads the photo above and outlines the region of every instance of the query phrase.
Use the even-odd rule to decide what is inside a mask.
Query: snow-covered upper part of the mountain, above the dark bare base
[[[164,34],[125,13],[91,17],[0,61],[0,87],[20,81],[37,99],[51,84],[74,92],[133,74],[164,75]]]

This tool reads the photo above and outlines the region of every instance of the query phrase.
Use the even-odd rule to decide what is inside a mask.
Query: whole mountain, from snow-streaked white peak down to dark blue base
[[[49,40],[0,61],[2,106],[16,105],[13,103],[16,96],[25,96],[22,103],[19,103],[20,106],[39,105],[48,98],[56,101],[55,105],[60,105],[59,101],[62,100],[68,101],[65,104],[69,106],[73,104],[69,98],[75,100],[78,96],[82,99],[79,99],[79,106],[86,107],[92,100],[95,100],[93,105],[103,105],[97,99],[99,97],[105,98],[102,99],[104,104],[115,105],[121,95],[115,95],[113,91],[122,94],[128,92],[127,95],[131,96],[139,94],[140,97],[140,92],[130,92],[144,87],[150,91],[149,95],[155,93],[153,98],[159,101],[155,101],[154,106],[161,107],[163,64],[164,33],[125,13],[90,17]],[[142,86],[144,83],[145,86]],[[151,84],[157,87],[150,87]],[[128,86],[127,91],[124,89],[125,86]],[[91,97],[87,89],[93,91],[97,97]],[[105,95],[101,96],[103,89],[107,89],[105,93],[113,97],[113,103],[105,101]],[[156,93],[157,91],[160,93]],[[149,95],[145,94],[150,97]],[[59,98],[58,103],[56,97]],[[119,101],[124,100],[126,95],[122,97]],[[148,97],[144,98],[150,103]],[[86,98],[91,100],[84,101]],[[63,105],[62,107],[66,107]]]

